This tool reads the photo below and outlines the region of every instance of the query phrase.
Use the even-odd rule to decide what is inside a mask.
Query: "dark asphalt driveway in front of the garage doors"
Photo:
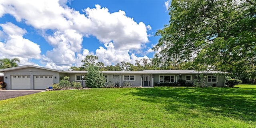
[[[22,90],[22,91],[9,91],[9,90],[3,90],[0,91],[0,100],[5,100],[8,98],[14,98],[18,96],[24,96],[24,95],[30,95],[34,93],[39,93],[44,90]]]

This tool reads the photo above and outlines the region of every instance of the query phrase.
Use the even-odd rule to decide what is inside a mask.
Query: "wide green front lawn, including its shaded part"
[[[0,127],[255,128],[256,88],[48,91],[0,100]]]

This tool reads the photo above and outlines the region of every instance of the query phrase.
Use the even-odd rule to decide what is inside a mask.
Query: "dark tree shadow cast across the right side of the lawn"
[[[248,88],[154,87],[137,89],[128,95],[139,96],[138,99],[146,102],[164,104],[168,112],[197,109],[256,122],[255,92],[256,89]],[[188,111],[182,113],[191,115]]]

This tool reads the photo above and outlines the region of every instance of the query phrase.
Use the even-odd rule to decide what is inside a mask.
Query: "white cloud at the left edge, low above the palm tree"
[[[25,29],[12,23],[0,24],[0,26],[6,35],[4,42],[0,42],[1,57],[18,57],[22,65],[30,63],[29,59],[41,58],[40,46],[29,39],[23,38],[23,34],[26,33]]]

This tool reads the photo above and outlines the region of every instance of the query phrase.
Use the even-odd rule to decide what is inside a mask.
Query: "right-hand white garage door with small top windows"
[[[34,89],[46,89],[52,85],[52,76],[34,76]]]

